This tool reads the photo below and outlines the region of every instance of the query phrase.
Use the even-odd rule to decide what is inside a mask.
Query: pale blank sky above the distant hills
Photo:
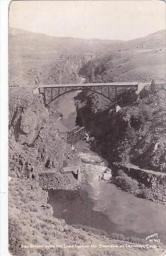
[[[57,37],[130,40],[166,29],[162,0],[21,0],[9,26]]]

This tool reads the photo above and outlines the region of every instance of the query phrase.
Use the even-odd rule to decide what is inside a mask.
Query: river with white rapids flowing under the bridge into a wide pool
[[[62,135],[75,126],[75,95],[77,92],[66,94],[52,103],[63,114],[62,119],[54,119]],[[117,232],[144,238],[158,233],[159,238],[165,239],[166,207],[121,191],[110,182],[99,181],[107,161],[91,151],[85,141],[76,148],[88,171],[89,183],[77,191],[49,190],[48,203],[53,206],[53,216],[65,219],[70,225],[86,225],[108,234]]]

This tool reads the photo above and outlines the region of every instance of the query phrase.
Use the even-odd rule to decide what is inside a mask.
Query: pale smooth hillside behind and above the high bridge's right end
[[[166,80],[166,33],[158,31],[119,45],[118,50],[99,53],[80,74],[92,82]]]

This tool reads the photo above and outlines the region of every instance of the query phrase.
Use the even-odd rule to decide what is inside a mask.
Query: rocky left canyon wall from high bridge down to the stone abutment
[[[10,90],[9,123],[9,175],[14,178],[38,180],[42,172],[83,165],[71,147],[59,137],[58,129],[49,119],[48,109],[40,94],[31,90]],[[59,176],[60,179],[60,176]],[[65,175],[61,175],[61,188],[69,189]],[[75,184],[76,179],[71,180]],[[77,183],[77,182],[76,182]],[[50,188],[51,183],[44,188]],[[75,186],[75,185],[73,185]],[[53,187],[53,186],[52,186]],[[72,184],[71,184],[72,187]],[[56,187],[54,186],[54,189]]]

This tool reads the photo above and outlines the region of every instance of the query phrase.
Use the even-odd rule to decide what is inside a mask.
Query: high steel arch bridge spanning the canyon
[[[116,82],[116,83],[84,83],[84,84],[50,84],[39,85],[34,93],[41,93],[44,96],[44,102],[48,106],[53,100],[66,93],[77,90],[89,90],[101,94],[112,104],[118,105],[117,98],[124,91],[132,89],[138,94],[146,83],[139,82]]]

